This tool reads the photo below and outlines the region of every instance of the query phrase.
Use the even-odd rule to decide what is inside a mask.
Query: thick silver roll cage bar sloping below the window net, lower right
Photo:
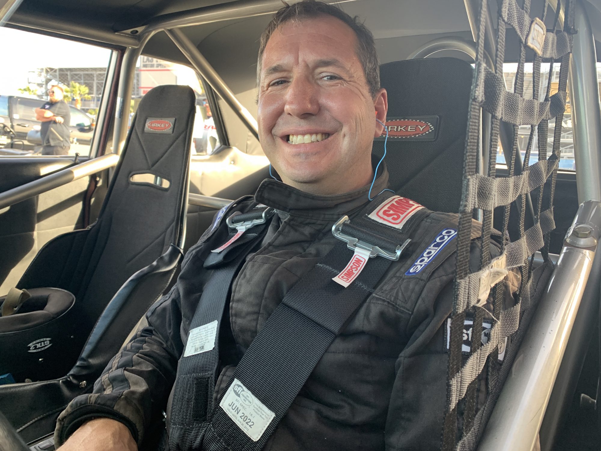
[[[593,266],[600,230],[601,202],[582,203],[487,423],[479,451],[534,448]]]

